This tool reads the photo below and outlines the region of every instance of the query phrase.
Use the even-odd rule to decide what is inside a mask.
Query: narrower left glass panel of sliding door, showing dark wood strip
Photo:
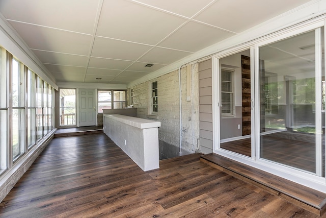
[[[254,122],[250,50],[221,58],[219,64],[220,148],[251,157]]]

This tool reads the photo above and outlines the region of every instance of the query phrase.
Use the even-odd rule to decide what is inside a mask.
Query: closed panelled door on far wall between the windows
[[[79,127],[95,125],[95,89],[79,89]]]

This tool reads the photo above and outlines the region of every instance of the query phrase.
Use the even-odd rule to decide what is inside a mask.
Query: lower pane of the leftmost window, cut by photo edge
[[[0,173],[7,169],[7,110],[0,110]]]

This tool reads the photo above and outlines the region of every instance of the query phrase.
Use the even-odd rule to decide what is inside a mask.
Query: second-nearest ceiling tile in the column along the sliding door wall
[[[197,52],[235,34],[198,22],[188,22],[158,46]]]

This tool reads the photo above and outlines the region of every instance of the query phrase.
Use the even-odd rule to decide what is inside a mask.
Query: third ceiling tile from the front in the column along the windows
[[[87,65],[87,56],[81,55],[68,55],[63,53],[46,52],[33,50],[33,53],[45,64],[60,64],[70,66],[83,66]]]

